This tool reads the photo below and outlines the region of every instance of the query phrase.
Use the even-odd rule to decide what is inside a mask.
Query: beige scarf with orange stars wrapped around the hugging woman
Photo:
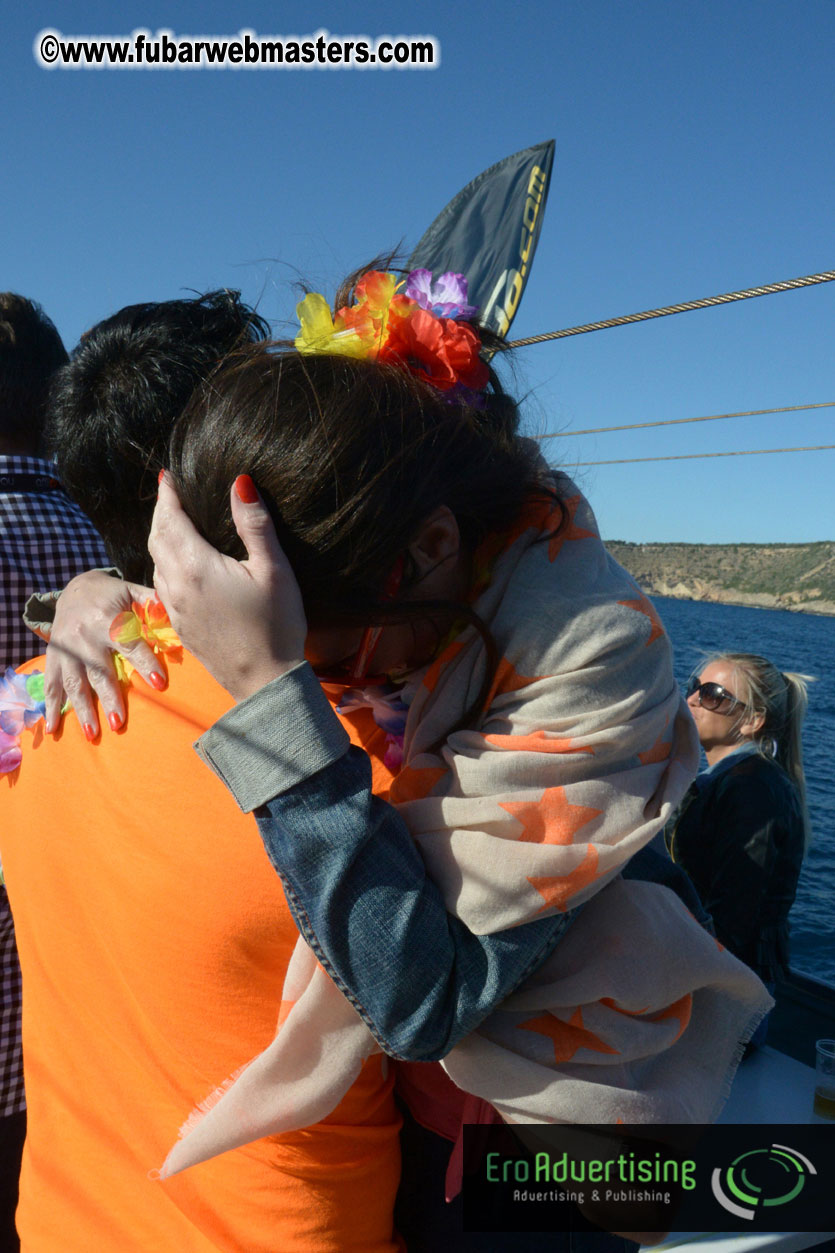
[[[562,511],[532,502],[486,554],[488,712],[450,732],[484,678],[468,628],[410,685],[389,799],[470,931],[583,908],[444,1068],[510,1121],[711,1121],[771,1001],[673,892],[619,876],[690,784],[697,739],[652,605],[557,486]],[[318,1121],[376,1048],[300,940],[275,1041],[194,1111],[163,1177]]]

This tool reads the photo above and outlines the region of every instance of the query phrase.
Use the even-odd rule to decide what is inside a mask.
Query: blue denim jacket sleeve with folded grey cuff
[[[474,935],[449,915],[306,664],[236,705],[194,747],[255,811],[301,933],[391,1056],[445,1056],[570,922],[565,913]]]

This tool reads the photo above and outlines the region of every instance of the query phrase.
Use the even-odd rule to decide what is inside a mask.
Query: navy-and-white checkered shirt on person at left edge
[[[0,673],[44,652],[23,624],[31,593],[63,588],[83,570],[109,564],[93,524],[55,484],[49,461],[0,456]],[[20,1005],[15,928],[0,887],[0,1118],[26,1108]]]

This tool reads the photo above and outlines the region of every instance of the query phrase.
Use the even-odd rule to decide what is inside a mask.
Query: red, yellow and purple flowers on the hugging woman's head
[[[469,393],[486,386],[481,341],[460,321],[475,313],[463,274],[441,274],[433,283],[430,271],[412,269],[404,282],[372,269],[356,284],[355,297],[354,304],[331,316],[325,297],[310,292],[296,308],[301,325],[296,348],[394,362],[439,391],[465,393],[470,401]]]

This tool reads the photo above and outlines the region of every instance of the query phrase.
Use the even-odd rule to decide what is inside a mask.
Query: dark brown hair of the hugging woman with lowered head
[[[184,509],[216,548],[242,558],[229,491],[252,475],[293,566],[311,626],[460,614],[469,606],[381,600],[424,520],[446,505],[473,551],[532,494],[554,497],[535,446],[494,378],[485,407],[450,402],[395,365],[258,345],[229,358],[177,424],[169,467]],[[404,590],[414,586],[406,569]],[[493,654],[493,655],[490,655]],[[491,675],[486,680],[489,688]]]

